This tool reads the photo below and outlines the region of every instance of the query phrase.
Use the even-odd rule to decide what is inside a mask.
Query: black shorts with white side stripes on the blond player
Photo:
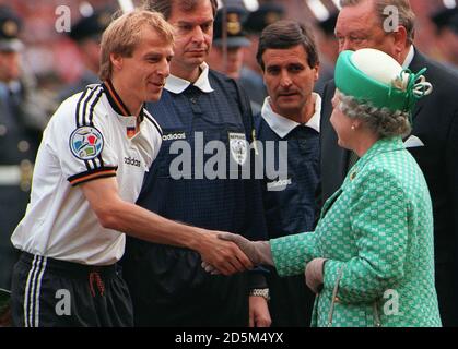
[[[13,325],[132,326],[132,303],[120,267],[90,266],[23,252],[14,266]]]

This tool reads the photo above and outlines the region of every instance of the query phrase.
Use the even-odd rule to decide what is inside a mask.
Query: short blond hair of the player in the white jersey
[[[102,35],[101,71],[102,81],[111,79],[111,53],[131,57],[142,39],[142,28],[154,29],[167,44],[174,44],[174,27],[157,12],[136,9],[114,20]]]

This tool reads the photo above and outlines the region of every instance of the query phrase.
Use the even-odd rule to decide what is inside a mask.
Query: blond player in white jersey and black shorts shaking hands
[[[136,10],[102,38],[101,81],[59,107],[38,151],[31,203],[11,240],[15,326],[130,326],[129,291],[116,262],[124,231],[187,246],[223,274],[251,267],[235,244],[134,204],[162,131],[143,109],[169,74],[173,28]],[[171,233],[173,231],[173,233]]]

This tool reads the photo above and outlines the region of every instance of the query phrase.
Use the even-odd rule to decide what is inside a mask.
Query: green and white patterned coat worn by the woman
[[[271,240],[281,276],[328,258],[313,326],[441,326],[433,245],[426,182],[400,137],[355,164],[315,232]]]

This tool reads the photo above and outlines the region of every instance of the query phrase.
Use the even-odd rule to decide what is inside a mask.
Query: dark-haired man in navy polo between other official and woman
[[[300,23],[280,21],[263,29],[257,59],[269,92],[255,117],[257,136],[265,151],[268,143],[274,145],[275,169],[282,160],[287,164],[279,178],[269,178],[273,158],[266,152],[262,197],[269,239],[313,231],[321,110],[321,98],[313,93],[319,67],[316,45]],[[268,284],[272,326],[309,326],[315,297],[304,275],[281,278],[272,268]]]

